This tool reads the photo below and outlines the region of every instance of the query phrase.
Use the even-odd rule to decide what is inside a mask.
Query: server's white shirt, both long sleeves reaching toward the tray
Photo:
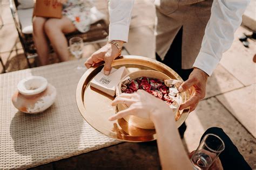
[[[134,0],[110,0],[109,39],[128,41]],[[231,47],[234,32],[250,0],[213,0],[200,52],[193,67],[212,75],[223,53]]]

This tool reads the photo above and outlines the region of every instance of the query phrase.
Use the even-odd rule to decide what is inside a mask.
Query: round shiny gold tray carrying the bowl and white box
[[[102,70],[103,66],[101,64],[88,69],[77,85],[77,106],[85,121],[99,132],[114,139],[135,142],[155,140],[155,130],[137,128],[127,123],[123,118],[113,122],[108,121],[108,118],[118,111],[116,107],[111,106],[114,97],[90,87],[91,79]],[[171,79],[183,81],[170,67],[143,56],[125,55],[112,62],[113,68],[122,66],[125,66],[130,73],[142,69],[157,70],[171,77]],[[187,92],[181,93],[181,95],[183,102],[190,96]],[[188,112],[188,109],[183,111],[183,114],[176,122],[177,128],[183,124],[188,116]]]

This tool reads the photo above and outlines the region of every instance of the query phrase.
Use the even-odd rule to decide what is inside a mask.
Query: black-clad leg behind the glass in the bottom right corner
[[[221,164],[225,169],[252,169],[244,157],[239,153],[238,148],[233,144],[232,140],[227,136],[227,134],[221,128],[210,128],[205,131],[201,140],[208,133],[213,133],[219,136],[225,143],[225,150],[220,153],[219,158]],[[200,140],[200,141],[201,141]]]

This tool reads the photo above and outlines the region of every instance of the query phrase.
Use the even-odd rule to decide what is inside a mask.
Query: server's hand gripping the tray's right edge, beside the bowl
[[[190,106],[191,112],[197,107],[198,102],[205,97],[207,78],[208,75],[203,70],[194,68],[187,81],[183,82],[179,87],[180,92],[189,89],[191,93],[190,99],[181,104],[179,110]]]

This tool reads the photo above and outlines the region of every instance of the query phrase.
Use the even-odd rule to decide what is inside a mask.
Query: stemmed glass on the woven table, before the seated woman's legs
[[[77,60],[82,58],[84,42],[80,37],[73,37],[69,40],[70,52],[75,56]],[[79,65],[77,70],[85,70],[85,66]]]

